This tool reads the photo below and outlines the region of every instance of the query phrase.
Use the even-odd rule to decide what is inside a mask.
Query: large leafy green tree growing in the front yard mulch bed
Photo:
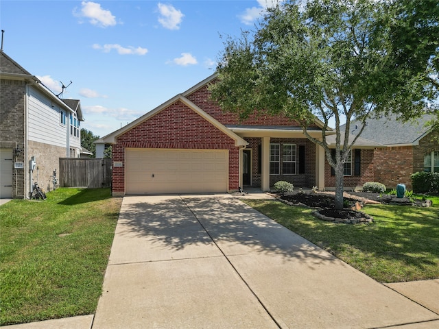
[[[417,1],[423,2],[280,2],[255,32],[224,40],[211,97],[241,119],[263,111],[298,121],[305,136],[324,148],[335,170],[335,208],[341,209],[344,160],[363,129],[349,140],[351,120],[365,123],[372,114],[391,113],[417,117],[437,96],[429,81],[437,82],[437,76],[429,70],[437,64],[432,56],[438,47],[431,43],[438,34],[429,33],[438,26],[438,1],[425,1],[436,8],[435,15],[420,20],[425,29],[419,22],[407,23],[428,7],[419,9]],[[426,42],[425,47],[406,47],[402,36],[407,32],[418,33],[412,38]],[[321,138],[307,133],[316,117],[324,123]],[[335,158],[325,135],[330,122],[335,125]]]

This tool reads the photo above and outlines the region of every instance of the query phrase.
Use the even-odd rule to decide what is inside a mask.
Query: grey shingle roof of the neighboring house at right
[[[418,145],[418,141],[431,130],[425,125],[431,119],[432,116],[427,114],[407,122],[398,120],[395,114],[389,117],[370,118],[366,121],[361,138],[388,147]],[[346,125],[342,125],[340,130],[344,130],[345,127]],[[359,132],[361,127],[361,122],[351,121],[351,134],[355,135],[355,132]]]

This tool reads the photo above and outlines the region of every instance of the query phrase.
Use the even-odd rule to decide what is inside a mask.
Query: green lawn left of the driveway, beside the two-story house
[[[0,207],[0,326],[95,313],[121,199],[58,188]]]

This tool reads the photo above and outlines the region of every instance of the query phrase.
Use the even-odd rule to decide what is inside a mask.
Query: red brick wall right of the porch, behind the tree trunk
[[[355,163],[355,151],[353,150],[352,164]],[[326,156],[326,155],[325,155]],[[374,181],[375,154],[373,149],[361,149],[360,174],[344,176],[344,187],[355,188],[361,187],[366,182]],[[354,173],[354,167],[352,167]],[[324,162],[324,186],[326,188],[335,188],[335,175],[331,175],[331,166],[325,159]]]

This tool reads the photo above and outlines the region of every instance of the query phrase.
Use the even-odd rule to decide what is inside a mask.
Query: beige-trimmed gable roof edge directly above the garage
[[[175,97],[169,99],[169,101],[166,101],[161,106],[158,106],[154,110],[147,112],[142,117],[132,121],[131,123],[129,123],[125,127],[121,127],[121,129],[116,130],[115,132],[112,132],[112,133],[110,133],[102,138],[99,138],[97,141],[95,141],[95,143],[97,143],[97,144],[102,144],[102,143],[113,144],[113,143],[115,143],[117,136],[120,136],[121,134],[128,132],[128,130],[131,130],[132,128],[136,127],[137,125],[141,124],[143,121],[146,121],[147,119],[150,119],[151,117],[154,117],[154,115],[158,114],[162,110],[165,110],[165,108],[171,106],[176,101],[181,101],[187,107],[191,108],[195,113],[200,115],[200,117],[206,119],[206,121],[209,121],[209,123],[211,123],[212,125],[217,127],[217,129],[221,130],[222,132],[224,132],[224,134],[226,134],[230,138],[232,138],[235,141],[235,146],[248,145],[248,143],[246,141],[244,141],[243,138],[239,137],[234,132],[228,130],[228,128],[225,127],[222,123],[219,123],[219,121],[217,121],[216,119],[211,117],[209,114],[204,112],[201,108],[196,106],[193,102],[189,101],[189,99],[184,97],[182,94],[176,95]]]

